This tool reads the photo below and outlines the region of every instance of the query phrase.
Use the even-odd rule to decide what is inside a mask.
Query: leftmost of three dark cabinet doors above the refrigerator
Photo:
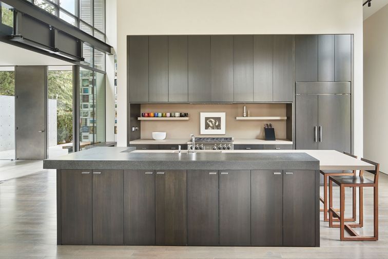
[[[295,36],[295,81],[318,81],[318,35]]]

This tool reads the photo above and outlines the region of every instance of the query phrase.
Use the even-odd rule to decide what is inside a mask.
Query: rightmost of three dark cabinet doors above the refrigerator
[[[350,34],[334,36],[335,81],[351,81],[352,37]]]

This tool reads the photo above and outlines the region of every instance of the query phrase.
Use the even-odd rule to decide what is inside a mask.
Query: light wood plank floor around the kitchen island
[[[321,221],[320,248],[56,246],[56,176],[54,170],[41,170],[0,183],[0,258],[388,258],[388,176],[380,176],[377,242],[341,242],[339,229]],[[364,207],[363,231],[371,233],[370,188],[364,190]]]

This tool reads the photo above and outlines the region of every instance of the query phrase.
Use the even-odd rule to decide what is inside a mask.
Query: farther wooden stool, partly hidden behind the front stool
[[[343,154],[357,158],[352,154],[343,152]],[[356,170],[343,170],[343,171],[334,171],[334,170],[320,170],[321,175],[323,175],[323,197],[319,197],[319,200],[323,203],[323,209],[320,211],[323,212],[323,221],[328,221],[328,204],[327,204],[327,183],[330,176],[356,176]],[[339,209],[336,209],[339,211]],[[339,221],[334,219],[334,221]],[[345,221],[356,221],[356,188],[353,188],[353,214],[352,218],[345,219]]]

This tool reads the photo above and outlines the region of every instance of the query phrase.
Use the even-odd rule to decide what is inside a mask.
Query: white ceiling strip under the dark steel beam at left
[[[66,66],[71,63],[0,41],[0,66]]]

